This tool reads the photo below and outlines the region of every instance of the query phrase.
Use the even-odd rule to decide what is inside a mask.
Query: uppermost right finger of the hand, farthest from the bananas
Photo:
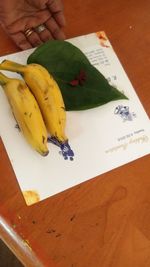
[[[50,12],[53,14],[56,22],[61,26],[64,27],[66,25],[65,16],[63,13],[63,4],[60,0],[51,1],[49,0],[47,6]]]

